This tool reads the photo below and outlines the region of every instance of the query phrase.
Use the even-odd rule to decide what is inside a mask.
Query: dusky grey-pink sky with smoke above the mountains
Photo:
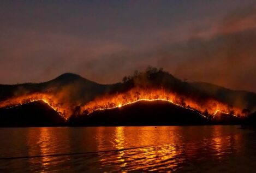
[[[256,1],[0,1],[0,83],[71,72],[114,83],[148,65],[256,92]]]

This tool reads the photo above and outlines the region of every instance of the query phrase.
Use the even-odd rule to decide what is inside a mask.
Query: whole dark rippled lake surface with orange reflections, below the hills
[[[240,126],[0,128],[0,172],[255,172]]]

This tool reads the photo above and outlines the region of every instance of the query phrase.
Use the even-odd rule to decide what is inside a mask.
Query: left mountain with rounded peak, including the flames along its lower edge
[[[59,115],[69,118],[76,105],[102,95],[108,88],[109,85],[100,85],[70,73],[43,83],[0,85],[0,108],[13,108],[42,100]]]

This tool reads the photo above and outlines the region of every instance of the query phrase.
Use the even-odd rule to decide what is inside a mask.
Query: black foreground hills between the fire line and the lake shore
[[[254,114],[250,116],[246,124],[255,123],[255,117]],[[242,122],[239,118],[231,115],[218,114],[216,118],[204,117],[198,111],[162,100],[152,102],[141,100],[122,108],[97,110],[90,115],[73,115],[67,121],[41,100],[10,109],[0,109],[0,127],[187,126],[240,123]]]

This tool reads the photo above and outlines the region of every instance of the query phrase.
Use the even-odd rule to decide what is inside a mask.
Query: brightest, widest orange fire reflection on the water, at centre
[[[101,134],[97,136],[109,139],[110,136],[106,135],[106,131],[111,128],[114,128],[111,131],[111,139],[114,140],[112,147],[116,148],[116,151],[99,155],[100,163],[104,168],[116,165],[118,170],[126,172],[144,170],[152,166],[151,171],[154,171],[156,166],[158,170],[165,170],[168,165],[168,169],[175,170],[184,160],[179,157],[183,151],[177,147],[182,144],[182,141],[179,136],[173,134],[174,130],[169,132],[172,127],[158,127],[158,129],[154,127],[105,127],[105,130],[98,131]],[[100,144],[100,138],[98,140]],[[163,144],[164,141],[168,144]],[[128,150],[122,150],[127,148]],[[109,155],[106,156],[106,154]]]

